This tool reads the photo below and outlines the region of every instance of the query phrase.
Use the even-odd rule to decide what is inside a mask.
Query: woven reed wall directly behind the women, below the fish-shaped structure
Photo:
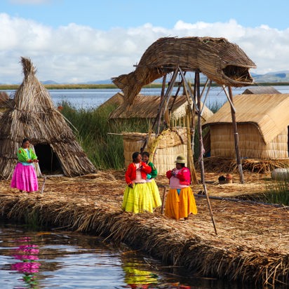
[[[140,152],[144,144],[147,133],[125,133],[123,134],[123,154],[126,167],[133,161],[134,152]],[[152,138],[154,138],[152,136]],[[166,133],[156,148],[154,155],[154,165],[160,175],[166,174],[168,170],[175,167],[175,158],[182,154],[187,157],[187,132],[186,128]]]

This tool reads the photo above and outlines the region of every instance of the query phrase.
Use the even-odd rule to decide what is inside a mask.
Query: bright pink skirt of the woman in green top
[[[11,188],[21,191],[38,191],[34,166],[23,166],[22,163],[17,163],[11,180]]]

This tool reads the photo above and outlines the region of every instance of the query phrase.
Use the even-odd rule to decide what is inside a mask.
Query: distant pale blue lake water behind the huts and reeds
[[[289,86],[274,86],[281,93],[289,93]],[[177,88],[173,89],[175,93]],[[233,94],[243,93],[246,88],[232,88]],[[6,90],[9,95],[13,95],[15,90]],[[111,98],[116,93],[121,92],[119,89],[53,89],[49,90],[51,98],[58,106],[62,101],[69,102],[73,107],[91,109],[98,107],[103,102]],[[143,95],[161,95],[160,88],[142,88],[140,91]],[[173,95],[172,93],[172,95]],[[206,92],[203,95],[202,101],[204,100]],[[208,97],[206,100],[206,105],[211,107],[215,103],[223,104],[227,101],[227,96],[224,90],[220,87],[210,88]]]

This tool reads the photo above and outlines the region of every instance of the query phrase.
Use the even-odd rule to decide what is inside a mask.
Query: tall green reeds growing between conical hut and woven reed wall
[[[116,109],[115,105],[76,109],[69,102],[62,102],[61,106],[62,114],[69,121],[81,147],[100,170],[124,167],[121,133],[145,133],[149,130],[149,122],[142,119],[109,120],[109,114]]]

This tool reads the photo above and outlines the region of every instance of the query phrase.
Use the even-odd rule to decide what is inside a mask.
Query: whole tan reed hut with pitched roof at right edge
[[[242,158],[288,158],[289,94],[236,95],[234,107]],[[226,102],[203,125],[210,127],[210,156],[234,158],[230,112],[229,102]]]

